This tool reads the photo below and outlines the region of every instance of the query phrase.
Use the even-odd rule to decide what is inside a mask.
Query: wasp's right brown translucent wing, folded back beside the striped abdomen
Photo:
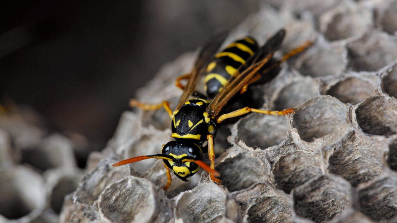
[[[281,29],[258,50],[258,53],[247,60],[248,65],[239,68],[239,75],[230,79],[226,87],[208,105],[206,112],[210,116],[217,117],[227,102],[272,58],[274,52],[280,48],[284,36],[285,30]]]

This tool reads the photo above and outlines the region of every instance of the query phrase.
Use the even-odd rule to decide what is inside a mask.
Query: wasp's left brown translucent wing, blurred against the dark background
[[[185,104],[189,96],[195,91],[196,85],[200,80],[200,77],[204,73],[205,67],[208,65],[216,51],[220,48],[225,38],[227,37],[227,32],[219,33],[218,35],[210,38],[202,47],[198,58],[195,62],[193,70],[190,74],[189,80],[175,110],[179,110]]]

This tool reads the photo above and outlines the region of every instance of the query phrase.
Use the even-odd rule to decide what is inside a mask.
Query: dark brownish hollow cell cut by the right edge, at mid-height
[[[367,98],[355,112],[357,123],[364,133],[388,136],[397,131],[397,102],[394,98]]]

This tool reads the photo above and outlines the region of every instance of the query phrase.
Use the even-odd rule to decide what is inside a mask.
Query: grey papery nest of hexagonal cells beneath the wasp
[[[227,41],[249,34],[263,44],[281,27],[287,36],[276,56],[306,40],[314,44],[242,98],[256,108],[296,107],[297,113],[249,114],[222,125],[215,138],[222,186],[200,171],[186,183],[172,176],[164,192],[162,160],[112,167],[116,160],[158,153],[171,140],[163,110],[127,111],[103,152],[91,154],[88,174],[66,196],[60,221],[397,222],[397,1],[268,1]],[[187,53],[164,65],[137,98],[175,107],[181,92],[174,80],[194,60]],[[18,137],[21,144],[31,140]],[[8,144],[2,132],[0,143]],[[1,159],[8,154],[2,148]],[[15,214],[39,215],[45,195],[12,185],[22,178],[40,185],[41,178],[22,167],[12,171],[0,173],[10,184],[1,196],[29,194],[15,204],[23,204],[23,213]],[[0,207],[4,213],[11,206]]]

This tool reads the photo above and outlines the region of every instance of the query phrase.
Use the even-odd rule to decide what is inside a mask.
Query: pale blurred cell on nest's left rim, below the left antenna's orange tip
[[[88,173],[76,189],[76,202],[92,205],[109,184],[130,175],[128,165],[112,167],[116,160],[101,160],[96,168]]]

